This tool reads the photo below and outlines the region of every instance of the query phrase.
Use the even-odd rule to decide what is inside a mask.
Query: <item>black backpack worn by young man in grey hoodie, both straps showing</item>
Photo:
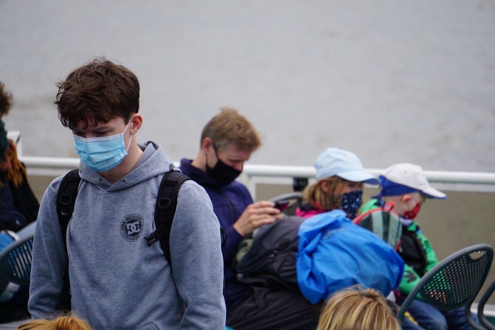
[[[148,240],[148,246],[153,242],[160,241],[161,248],[170,267],[172,267],[172,264],[170,262],[169,236],[174,220],[175,209],[177,207],[177,196],[179,195],[179,189],[184,181],[191,180],[187,175],[178,171],[173,171],[172,168],[170,169],[170,172],[165,173],[163,176],[160,189],[158,190],[155,208],[156,231],[150,236],[145,237],[145,239]],[[74,210],[80,181],[79,170],[72,170],[64,176],[60,183],[60,188],[58,189],[57,214],[61,226],[61,234],[64,238],[64,244],[66,244],[65,237],[67,226],[72,216],[72,211]],[[67,246],[65,246],[65,251],[67,252]],[[65,268],[62,294],[56,305],[56,309],[70,311],[71,297],[69,290],[69,269],[67,265]]]

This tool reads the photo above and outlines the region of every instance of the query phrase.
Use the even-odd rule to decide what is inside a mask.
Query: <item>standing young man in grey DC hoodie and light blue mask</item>
[[[71,308],[94,329],[224,329],[220,225],[193,180],[179,190],[170,233],[171,265],[155,231],[155,203],[174,168],[163,148],[140,144],[139,82],[104,58],[77,68],[55,104],[81,158],[78,195],[66,232],[56,210],[62,180],[43,196],[33,245],[29,312],[52,318],[68,263]],[[171,166],[172,165],[172,166]]]

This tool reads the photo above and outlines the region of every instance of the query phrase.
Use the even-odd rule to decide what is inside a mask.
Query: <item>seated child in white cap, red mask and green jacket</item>
[[[438,259],[430,241],[421,232],[414,219],[421,205],[428,198],[445,199],[447,195],[430,186],[419,165],[410,163],[394,164],[380,175],[381,190],[360,209],[360,213],[394,203],[394,211],[402,222],[399,255],[405,262],[404,276],[399,285],[398,303],[411,292],[421,277],[432,269]],[[463,309],[440,311],[423,302],[418,296],[408,309],[418,324],[427,330],[472,329],[464,317]]]

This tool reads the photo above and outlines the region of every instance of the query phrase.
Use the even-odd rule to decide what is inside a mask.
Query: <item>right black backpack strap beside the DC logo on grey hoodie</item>
[[[155,207],[155,226],[156,230],[150,236],[145,237],[148,240],[148,246],[159,240],[165,258],[172,267],[170,260],[170,231],[174,220],[175,210],[177,208],[177,197],[179,189],[184,181],[191,180],[187,175],[179,171],[165,173],[158,190]]]

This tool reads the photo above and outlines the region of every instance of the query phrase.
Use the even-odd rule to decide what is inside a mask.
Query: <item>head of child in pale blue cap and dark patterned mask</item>
[[[380,183],[375,176],[364,171],[356,154],[336,147],[320,153],[314,167],[316,183],[304,190],[306,203],[296,210],[296,215],[305,218],[342,209],[352,219],[362,204],[363,184]]]

